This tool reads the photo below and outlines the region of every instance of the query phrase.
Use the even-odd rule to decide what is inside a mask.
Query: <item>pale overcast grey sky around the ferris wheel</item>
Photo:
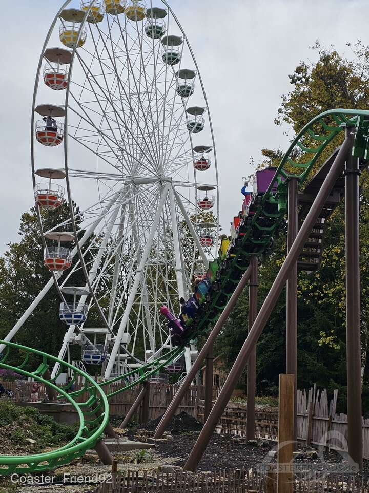
[[[364,0],[169,0],[194,50],[207,91],[218,151],[221,224],[240,209],[242,176],[263,147],[286,148],[273,123],[288,74],[316,59],[316,40],[345,47],[368,43]],[[46,32],[61,0],[2,5],[0,30],[0,252],[17,241],[20,214],[33,205],[30,115],[34,75]],[[290,133],[290,137],[293,137]],[[62,166],[63,163],[60,163]],[[56,166],[56,167],[60,167]]]

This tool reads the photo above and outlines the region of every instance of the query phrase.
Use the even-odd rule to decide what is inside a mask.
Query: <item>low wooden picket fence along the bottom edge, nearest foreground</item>
[[[95,493],[273,493],[276,477],[267,477],[245,470],[219,473],[154,473],[126,471],[99,485]],[[296,493],[369,493],[367,478],[358,476],[311,473],[295,478]]]

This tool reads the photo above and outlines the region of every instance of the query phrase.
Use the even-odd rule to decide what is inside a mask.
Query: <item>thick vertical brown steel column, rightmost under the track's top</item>
[[[348,456],[362,469],[359,162],[346,165],[346,339]]]

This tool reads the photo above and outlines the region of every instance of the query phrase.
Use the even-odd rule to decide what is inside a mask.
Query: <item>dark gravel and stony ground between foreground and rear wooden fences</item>
[[[145,427],[144,427],[145,429]],[[137,429],[130,429],[127,432],[127,438],[137,440]],[[141,434],[141,432],[139,432]],[[182,434],[176,434],[173,440],[155,442],[155,450],[148,450],[115,453],[114,458],[118,461],[118,470],[132,471],[155,471],[158,466],[175,465],[183,466],[192,450],[197,439],[198,431],[182,431]],[[150,438],[148,441],[150,442]],[[268,456],[268,452],[276,447],[275,442],[261,441],[255,444],[238,442],[237,438],[230,435],[214,435],[207,447],[206,452],[199,464],[199,471],[220,471],[227,468],[245,468],[250,469],[257,467],[263,462],[275,462]],[[314,455],[314,452],[313,452]],[[142,463],[137,463],[142,461]],[[344,461],[344,458],[334,452],[324,453],[324,462],[335,464]],[[320,464],[321,459],[315,458],[297,458],[295,462]],[[98,460],[96,454],[89,453],[85,456],[84,461],[74,462],[55,471],[55,475],[61,479],[64,474],[76,476],[95,476],[109,474],[110,466],[104,466]],[[369,462],[365,463],[364,476],[369,480]],[[0,493],[93,493],[95,486],[26,486],[12,488],[9,484],[0,486]]]

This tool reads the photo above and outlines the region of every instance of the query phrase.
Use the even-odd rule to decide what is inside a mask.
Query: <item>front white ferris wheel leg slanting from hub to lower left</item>
[[[155,236],[155,233],[156,233],[159,221],[160,221],[161,212],[163,210],[163,207],[164,207],[164,204],[165,204],[168,192],[169,192],[169,187],[170,187],[170,184],[167,182],[162,189],[162,195],[161,195],[160,203],[158,205],[158,208],[157,208],[157,211],[155,214],[155,219],[154,219],[153,225],[151,226],[151,231],[150,231],[147,243],[145,245],[144,252],[142,253],[141,261],[139,263],[138,268],[136,269],[135,280],[134,280],[131,292],[130,292],[129,297],[128,297],[126,309],[124,311],[124,314],[123,314],[121,322],[120,322],[120,326],[119,326],[119,329],[118,329],[118,332],[116,335],[114,346],[112,348],[112,351],[111,351],[111,354],[109,357],[107,368],[105,370],[104,376],[107,380],[110,377],[110,374],[113,370],[115,359],[119,353],[120,342],[121,342],[122,336],[124,334],[124,331],[125,331],[127,323],[128,323],[129,315],[131,313],[133,302],[134,302],[134,299],[136,297],[138,286],[139,286],[141,279],[142,279],[142,271],[144,270],[145,264],[146,264],[147,259],[149,257],[151,245],[152,245],[152,242],[153,242],[153,239],[154,239],[154,236]]]

